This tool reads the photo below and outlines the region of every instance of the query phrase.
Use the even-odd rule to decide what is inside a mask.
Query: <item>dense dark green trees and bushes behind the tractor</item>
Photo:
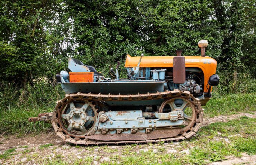
[[[200,55],[201,39],[218,72],[256,75],[255,0],[5,0],[0,7],[0,79],[17,88],[45,78],[53,84],[68,57],[108,74],[127,53]]]

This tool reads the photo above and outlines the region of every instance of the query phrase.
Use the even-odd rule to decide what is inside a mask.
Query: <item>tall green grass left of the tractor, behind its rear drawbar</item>
[[[29,122],[28,118],[51,112],[55,102],[64,97],[60,86],[49,85],[47,81],[40,81],[34,87],[28,85],[26,90],[11,86],[2,85],[0,91],[0,136],[46,131],[48,123]]]

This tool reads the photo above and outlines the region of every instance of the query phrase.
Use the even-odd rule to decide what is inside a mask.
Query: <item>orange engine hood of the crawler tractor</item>
[[[197,67],[200,68],[204,73],[204,92],[208,89],[206,85],[208,84],[209,77],[216,72],[217,62],[211,57],[202,56],[184,56],[186,67]],[[140,57],[131,57],[127,54],[125,67],[136,67],[138,65]],[[139,67],[157,67],[166,68],[173,67],[173,56],[146,56],[142,57]]]

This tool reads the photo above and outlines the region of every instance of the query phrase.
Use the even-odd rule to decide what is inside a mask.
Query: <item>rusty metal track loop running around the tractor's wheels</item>
[[[62,109],[73,100],[89,100],[89,101],[135,101],[135,100],[152,100],[152,99],[171,99],[175,97],[183,97],[186,99],[189,99],[196,111],[196,118],[193,121],[194,124],[188,129],[186,132],[180,132],[175,134],[170,134],[169,137],[162,137],[160,136],[152,136],[152,139],[150,140],[143,140],[143,138],[134,138],[136,140],[130,140],[132,139],[132,136],[135,134],[131,134],[129,140],[121,140],[122,137],[127,135],[98,135],[98,138],[95,138],[96,135],[93,135],[93,131],[91,135],[74,135],[74,134],[68,134],[66,132],[65,128],[60,124],[60,121],[58,120],[58,114],[62,111]],[[182,140],[182,139],[188,139],[191,136],[195,135],[198,129],[202,125],[203,120],[203,110],[201,107],[201,104],[198,99],[193,97],[190,92],[185,91],[167,91],[164,92],[156,92],[156,93],[147,93],[147,94],[136,94],[136,95],[112,95],[112,94],[92,94],[92,93],[74,93],[74,94],[67,94],[65,98],[63,98],[60,101],[56,102],[57,105],[55,107],[55,111],[52,113],[52,126],[55,130],[55,133],[60,136],[65,142],[73,143],[73,144],[84,144],[84,145],[93,145],[93,144],[120,144],[120,143],[149,143],[149,142],[159,142],[159,141],[172,141],[172,140]],[[154,135],[161,135],[161,129],[154,129],[152,132],[154,132]],[[95,129],[96,131],[96,129]],[[159,131],[159,132],[158,132]],[[174,131],[174,130],[172,130]],[[151,132],[151,133],[152,133]],[[175,132],[175,131],[174,131]],[[148,134],[151,134],[148,133]],[[178,135],[177,135],[178,134]],[[117,139],[115,137],[118,136]],[[140,136],[140,135],[137,135]],[[145,136],[146,137],[146,136]]]

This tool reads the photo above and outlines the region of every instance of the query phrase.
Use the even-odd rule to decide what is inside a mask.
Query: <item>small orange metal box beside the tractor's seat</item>
[[[93,72],[69,72],[69,82],[93,82]]]

